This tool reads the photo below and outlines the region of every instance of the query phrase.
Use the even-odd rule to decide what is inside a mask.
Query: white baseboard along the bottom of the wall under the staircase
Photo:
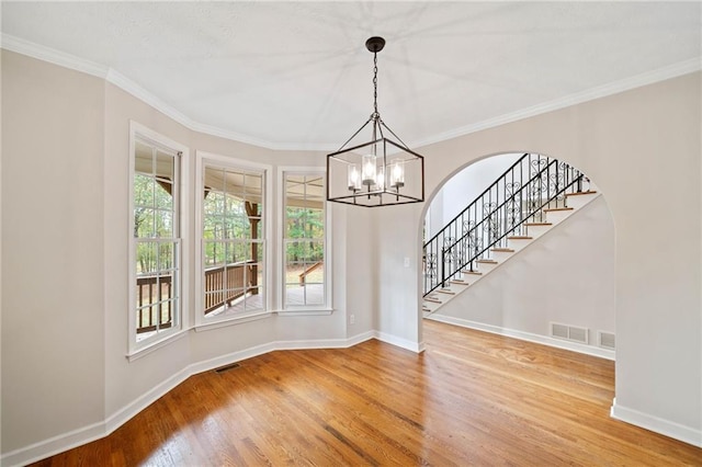
[[[500,326],[484,324],[482,322],[471,321],[463,318],[455,318],[452,316],[431,314],[424,319],[432,319],[439,322],[445,322],[448,324],[460,326],[462,328],[475,329],[478,331],[490,332],[492,334],[506,335],[508,338],[519,339],[521,341],[534,342],[537,344],[548,345],[551,348],[564,349],[573,352],[582,353],[586,355],[597,356],[600,358],[607,358],[614,361],[615,353],[613,351],[601,349],[592,345],[585,345],[577,342],[564,341],[563,339],[554,339],[547,335],[534,334],[531,332],[518,331],[516,329],[507,329]]]

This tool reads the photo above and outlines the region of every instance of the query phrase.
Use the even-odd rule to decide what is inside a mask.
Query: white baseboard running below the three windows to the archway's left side
[[[168,391],[172,390],[176,386],[183,383],[190,376],[195,375],[197,373],[218,368],[220,366],[229,365],[235,362],[240,362],[246,358],[251,358],[253,356],[262,355],[268,352],[272,352],[276,350],[297,350],[297,349],[344,349],[344,348],[356,345],[361,342],[364,342],[374,338],[377,338],[378,340],[383,340],[384,342],[392,343],[394,345],[399,345],[404,349],[412,350],[410,346],[408,346],[409,343],[407,341],[403,341],[398,339],[389,339],[390,337],[385,334],[384,335],[387,340],[384,340],[378,338],[376,334],[377,333],[374,331],[369,331],[369,332],[364,332],[364,333],[351,337],[349,339],[278,341],[278,342],[271,342],[262,345],[257,345],[250,349],[245,349],[238,352],[233,352],[227,355],[220,355],[215,358],[210,358],[206,361],[190,364],[182,371],[178,372],[176,375],[167,378],[166,380],[161,381],[154,388],[149,389],[147,392],[139,396],[137,399],[124,406],[122,409],[115,411],[105,420],[90,424],[88,426],[72,430],[68,433],[53,436],[48,440],[34,443],[32,445],[12,451],[10,453],[5,453],[0,457],[0,466],[2,467],[24,466],[24,465],[44,459],[46,457],[56,455],[58,453],[63,453],[65,451],[71,449],[73,447],[78,447],[83,444],[90,443],[91,441],[105,437],[110,435],[112,432],[114,432],[116,429],[122,426],[124,423],[129,421],[133,417],[135,417],[141,410],[146,409],[148,406],[154,403],[165,394],[167,394]],[[399,343],[396,343],[396,342],[399,342]]]

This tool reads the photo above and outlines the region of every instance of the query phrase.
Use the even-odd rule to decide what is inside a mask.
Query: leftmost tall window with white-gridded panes
[[[181,329],[181,163],[185,148],[132,127],[131,351]]]

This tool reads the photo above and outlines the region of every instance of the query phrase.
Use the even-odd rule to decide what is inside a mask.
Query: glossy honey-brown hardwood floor
[[[424,320],[192,376],[111,436],[39,466],[681,466],[702,449],[609,417],[612,362]]]

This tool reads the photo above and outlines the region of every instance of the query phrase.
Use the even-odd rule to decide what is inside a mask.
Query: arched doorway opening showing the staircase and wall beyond
[[[577,169],[568,172],[569,166],[561,160],[525,155],[480,158],[457,168],[433,191],[422,213],[423,238],[435,237],[437,218],[458,223],[422,250],[423,289],[439,291],[432,298],[442,303],[423,301],[420,314],[426,319],[614,360],[615,260],[610,209],[595,184]],[[510,170],[501,189],[490,187]],[[466,182],[477,186],[467,190]],[[597,193],[588,195],[591,200],[577,212],[567,210],[569,204],[577,204],[576,194],[589,192]],[[465,219],[461,213],[473,198],[461,197],[463,193],[485,197]],[[533,230],[523,226],[510,230],[520,223]],[[544,231],[532,234],[542,228],[540,224]],[[492,236],[502,234],[502,240],[492,242],[497,240]],[[485,250],[484,259],[469,261],[480,250]],[[458,270],[469,271],[456,273],[451,269],[456,262],[465,263]]]

